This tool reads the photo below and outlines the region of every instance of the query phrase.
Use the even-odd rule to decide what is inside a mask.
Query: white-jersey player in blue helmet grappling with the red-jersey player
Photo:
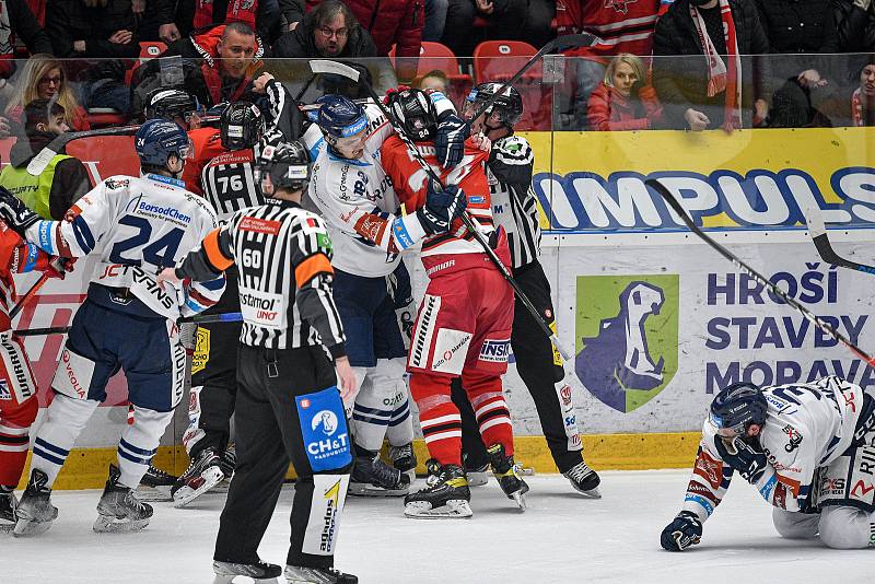
[[[446,97],[434,94],[432,100],[445,119],[455,118]],[[350,493],[404,495],[416,468],[413,428],[404,379],[407,346],[387,277],[404,270],[405,249],[425,235],[446,231],[447,224],[440,226],[438,218],[446,215],[459,195],[434,194],[417,213],[399,214],[398,199],[380,165],[380,149],[393,133],[380,108],[362,107],[340,95],[317,103],[316,125],[325,147],[313,166],[308,195],[325,217],[335,245],[335,302],[359,384],[351,416],[355,465]],[[464,137],[458,131],[451,136],[451,128],[457,130],[457,125],[444,126],[442,160],[454,162]],[[402,280],[406,272],[399,275]],[[384,437],[394,468],[378,457]]]

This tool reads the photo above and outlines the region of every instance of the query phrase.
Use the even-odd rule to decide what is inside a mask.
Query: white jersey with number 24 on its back
[[[100,256],[92,283],[129,289],[154,313],[176,319],[215,304],[224,277],[174,291],[159,287],[155,275],[199,247],[218,225],[209,202],[185,190],[182,180],[112,176],[79,199],[63,221],[32,225],[27,238],[62,257]]]

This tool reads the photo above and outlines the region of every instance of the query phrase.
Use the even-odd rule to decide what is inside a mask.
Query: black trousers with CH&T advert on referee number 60
[[[291,460],[298,481],[287,563],[332,567],[332,552],[307,553],[304,549],[312,549],[314,529],[316,540],[319,537],[335,537],[340,517],[339,511],[334,516],[331,511],[332,507],[339,510],[343,506],[352,458],[350,456],[349,464],[341,468],[314,474],[305,449],[307,444],[295,397],[334,386],[334,366],[322,347],[272,350],[241,344],[237,381],[237,466],[219,522],[213,559],[241,563],[259,560],[258,546],[270,523]],[[345,432],[343,441],[348,446],[349,433],[339,395],[337,404],[341,420],[334,437]],[[306,425],[308,431],[311,423],[307,421]],[[313,447],[313,444],[310,446]],[[320,475],[324,476],[320,482],[331,482],[336,490],[326,489],[323,492],[320,489],[314,498],[314,476]],[[343,483],[337,488],[337,482]],[[329,500],[330,504],[326,505]],[[314,516],[315,521],[312,519]],[[311,523],[313,529],[308,533]]]

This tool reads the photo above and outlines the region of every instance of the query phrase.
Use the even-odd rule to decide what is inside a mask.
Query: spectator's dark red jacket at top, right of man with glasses
[[[319,3],[322,0],[307,0],[307,8]],[[398,79],[411,83],[422,46],[423,0],[348,0],[348,7],[371,34],[378,56],[388,57],[395,45]]]

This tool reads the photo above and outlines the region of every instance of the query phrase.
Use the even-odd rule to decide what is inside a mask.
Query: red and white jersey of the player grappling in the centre
[[[465,143],[465,155],[462,162],[447,170],[443,168],[438,162],[432,143],[418,143],[417,149],[425,162],[441,177],[441,182],[444,185],[458,185],[465,191],[468,198],[468,214],[478,225],[480,232],[489,236],[494,231],[489,183],[486,177],[486,163],[489,160],[489,152],[483,152],[469,139]],[[395,192],[408,213],[412,213],[425,205],[429,175],[397,136],[390,137],[383,145],[383,167],[392,179]],[[430,265],[432,261],[428,258],[443,254],[483,254],[483,248],[477,243],[474,235],[465,229],[462,220],[456,219],[448,233],[431,235],[422,243],[422,262],[427,270],[432,267]]]

